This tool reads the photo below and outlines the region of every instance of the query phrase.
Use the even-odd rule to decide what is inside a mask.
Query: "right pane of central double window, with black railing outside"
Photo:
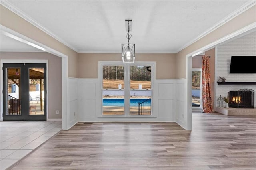
[[[150,66],[130,66],[130,115],[151,115]]]

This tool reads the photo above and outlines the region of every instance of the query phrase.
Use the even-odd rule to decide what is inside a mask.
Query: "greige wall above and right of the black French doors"
[[[48,60],[48,118],[62,118],[61,58],[44,52],[0,52],[0,55],[1,59]]]

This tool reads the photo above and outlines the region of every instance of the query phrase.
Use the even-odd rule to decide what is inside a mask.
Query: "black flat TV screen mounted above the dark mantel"
[[[229,73],[256,73],[256,56],[232,56]]]

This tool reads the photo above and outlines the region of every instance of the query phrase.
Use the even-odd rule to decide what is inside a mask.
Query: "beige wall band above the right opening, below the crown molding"
[[[246,10],[242,14],[236,16],[226,24],[220,26],[210,34],[207,34],[200,40],[189,45],[176,54],[176,78],[186,78],[186,55],[208,45],[236,30],[244,28],[249,24],[256,22],[256,6]]]

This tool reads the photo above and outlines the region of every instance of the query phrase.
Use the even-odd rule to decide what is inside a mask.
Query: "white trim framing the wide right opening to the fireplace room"
[[[190,103],[190,96],[191,96],[191,93],[188,93],[189,91],[191,91],[191,78],[192,78],[192,75],[190,74],[191,73],[191,69],[192,69],[192,54],[194,53],[197,53],[199,51],[207,51],[209,49],[212,49],[214,47],[216,47],[217,45],[219,45],[220,43],[224,43],[228,40],[230,40],[231,38],[234,38],[240,34],[244,34],[248,31],[252,31],[252,30],[255,30],[256,28],[256,22],[252,23],[252,24],[249,24],[248,26],[245,26],[244,28],[241,28],[240,30],[237,30],[235,32],[232,32],[231,34],[227,35],[227,36],[224,36],[212,43],[209,43],[208,45],[205,45],[204,47],[201,47],[200,49],[197,49],[195,51],[192,51],[191,53],[187,54],[186,55],[186,107],[187,107],[187,122],[186,122],[186,130],[191,130],[191,127],[192,127],[192,112],[191,112],[191,108],[192,107],[188,107],[188,103]],[[216,57],[217,58],[217,57]],[[216,74],[215,74],[216,75]],[[188,90],[189,89],[189,90]]]

